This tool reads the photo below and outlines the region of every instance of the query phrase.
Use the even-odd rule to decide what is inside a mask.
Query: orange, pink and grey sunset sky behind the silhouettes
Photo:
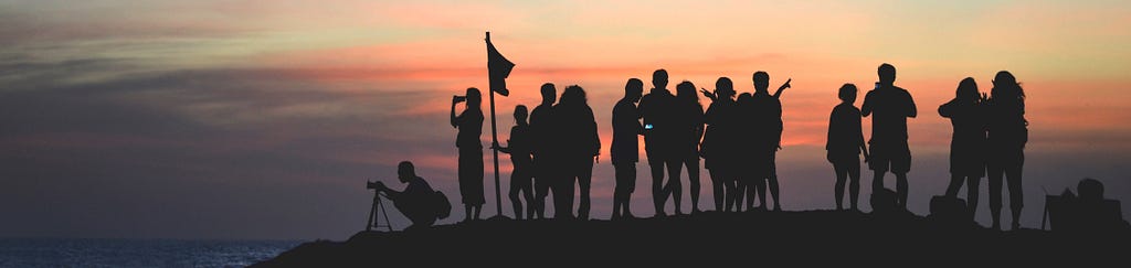
[[[543,83],[588,92],[607,156],[627,79],[664,68],[673,85],[729,77],[741,93],[765,70],[771,85],[793,79],[783,207],[831,209],[836,90],[870,88],[888,62],[920,111],[909,208],[925,215],[950,176],[938,105],[962,78],[988,92],[1009,70],[1028,96],[1022,225],[1039,227],[1042,197],[1082,178],[1131,200],[1125,1],[2,0],[0,25],[0,237],[344,240],[364,227],[365,181],[403,187],[400,161],[456,202],[440,222],[454,223],[449,100],[487,87],[484,32],[516,63],[511,95],[497,98],[500,140]],[[646,162],[638,170],[631,206],[649,216]],[[595,218],[610,215],[612,171],[607,157],[594,170]],[[701,181],[699,206],[713,207],[706,171]],[[988,225],[985,185],[976,218]]]

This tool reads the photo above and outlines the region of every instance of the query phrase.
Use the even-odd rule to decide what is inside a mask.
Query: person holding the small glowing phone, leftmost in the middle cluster
[[[612,219],[632,218],[629,209],[632,192],[636,191],[636,164],[640,161],[638,136],[644,135],[637,102],[644,94],[644,81],[629,79],[624,85],[624,97],[613,106],[613,145],[610,148],[613,168],[616,171],[616,188],[613,191]]]

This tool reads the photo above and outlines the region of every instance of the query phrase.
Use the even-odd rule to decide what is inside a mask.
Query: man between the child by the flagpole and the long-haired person
[[[554,84],[546,83],[542,85],[539,92],[542,93],[542,104],[538,104],[530,112],[535,192],[533,206],[535,217],[545,218],[546,196],[550,194],[551,187],[558,181],[556,178],[561,176],[555,168],[559,163],[556,161],[558,154],[554,152],[556,139],[553,129],[554,102],[558,101],[558,89],[554,88]]]

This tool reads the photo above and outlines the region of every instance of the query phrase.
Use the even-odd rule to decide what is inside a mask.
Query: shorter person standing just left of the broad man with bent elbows
[[[840,104],[832,107],[829,114],[829,136],[824,144],[828,150],[826,158],[832,163],[832,170],[837,174],[836,191],[837,210],[844,209],[845,181],[848,181],[848,206],[852,210],[858,211],[856,204],[860,200],[860,154],[864,153],[864,159],[869,158],[867,147],[864,146],[864,132],[861,128],[860,109],[853,106],[856,102],[856,85],[845,84],[840,86],[838,96]]]

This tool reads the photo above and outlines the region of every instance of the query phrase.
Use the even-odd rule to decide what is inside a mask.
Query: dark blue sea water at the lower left
[[[0,239],[0,267],[243,267],[302,241]]]

